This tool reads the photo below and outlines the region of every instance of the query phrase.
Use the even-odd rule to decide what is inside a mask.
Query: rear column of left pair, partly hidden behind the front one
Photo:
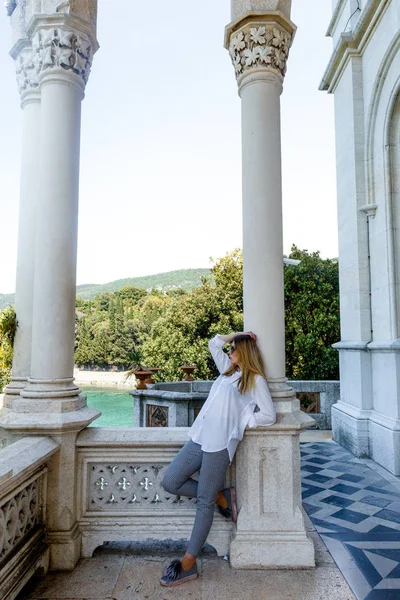
[[[23,110],[22,160],[18,227],[15,310],[18,321],[14,341],[12,377],[5,388],[4,406],[12,408],[26,387],[31,372],[33,278],[36,212],[40,193],[40,92],[34,52],[29,42],[18,42],[11,50],[16,60],[17,83]]]

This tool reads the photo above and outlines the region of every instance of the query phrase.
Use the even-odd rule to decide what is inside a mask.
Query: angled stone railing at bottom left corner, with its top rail
[[[12,600],[48,568],[47,463],[58,444],[26,437],[0,451],[0,598]]]

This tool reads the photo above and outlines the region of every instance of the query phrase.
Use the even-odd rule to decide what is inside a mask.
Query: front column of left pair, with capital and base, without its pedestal
[[[81,422],[87,412],[73,367],[81,101],[95,42],[81,26],[66,15],[37,17],[31,25],[41,93],[40,202],[30,377],[13,412],[25,420],[58,415],[57,425]]]

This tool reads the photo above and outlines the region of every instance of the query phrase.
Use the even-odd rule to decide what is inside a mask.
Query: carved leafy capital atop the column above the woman
[[[228,25],[225,47],[229,50],[239,88],[267,77],[282,84],[295,26],[280,13],[247,13]]]

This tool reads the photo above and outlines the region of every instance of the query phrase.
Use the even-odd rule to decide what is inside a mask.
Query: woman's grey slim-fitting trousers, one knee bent
[[[203,452],[189,440],[165,471],[162,486],[170,494],[197,498],[196,518],[187,551],[197,556],[204,546],[214,518],[217,493],[224,487],[229,466],[228,450]],[[199,481],[191,476],[200,470]]]

